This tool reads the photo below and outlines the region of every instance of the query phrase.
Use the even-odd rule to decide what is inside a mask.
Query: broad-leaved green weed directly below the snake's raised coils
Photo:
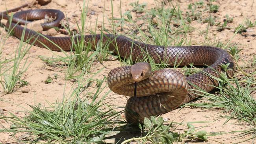
[[[207,141],[206,131],[196,131],[192,124],[187,123],[188,129],[184,130],[183,133],[177,133],[174,132],[176,127],[173,126],[173,122],[164,124],[162,117],[154,118],[154,116],[151,116],[150,119],[144,118],[144,125],[139,124],[139,127],[142,131],[142,137],[130,138],[124,140],[121,144],[132,141],[138,142],[139,144],[145,144],[147,142],[153,144],[173,144],[174,142],[181,142],[184,138]]]

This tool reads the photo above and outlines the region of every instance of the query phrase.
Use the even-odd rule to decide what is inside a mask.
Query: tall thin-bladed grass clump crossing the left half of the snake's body
[[[71,37],[72,41],[72,46],[71,46],[71,51],[70,52],[65,52],[61,50],[59,46],[59,49],[65,56],[59,56],[56,55],[54,52],[54,57],[45,57],[45,56],[39,56],[39,59],[44,61],[50,66],[67,66],[67,73],[65,76],[66,80],[71,80],[71,79],[78,79],[81,77],[78,72],[85,71],[89,73],[91,70],[91,66],[99,61],[102,63],[102,61],[108,60],[108,55],[112,54],[112,52],[108,51],[108,46],[110,41],[106,41],[103,43],[102,39],[101,41],[98,41],[98,43],[94,43],[93,40],[91,42],[85,42],[83,41],[85,39],[85,30],[86,28],[86,20],[87,20],[87,7],[85,0],[83,0],[83,5],[80,6],[80,11],[81,11],[81,25],[77,24],[78,28],[78,33],[75,35],[72,31],[69,29],[69,22],[67,21],[67,31],[69,33],[69,36]],[[67,18],[68,19],[68,18]],[[104,20],[103,20],[104,21]],[[97,24],[96,24],[97,25]],[[96,27],[95,27],[96,30]],[[102,23],[102,30],[104,30],[104,22]],[[93,31],[90,31],[93,35]],[[104,37],[105,34],[103,32],[100,33],[101,37]],[[78,38],[77,35],[80,37]],[[41,35],[45,37],[44,35]],[[45,37],[45,39],[47,39]],[[48,39],[48,41],[50,41]],[[52,41],[50,41],[52,42]],[[53,43],[53,42],[52,42]],[[48,50],[47,46],[45,46]],[[91,52],[92,50],[95,50],[94,52]]]

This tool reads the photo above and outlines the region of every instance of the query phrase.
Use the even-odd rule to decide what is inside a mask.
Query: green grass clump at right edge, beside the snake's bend
[[[253,78],[247,78],[244,81],[245,83],[241,84],[243,82],[239,82],[237,78],[228,79],[226,73],[221,73],[220,76],[220,78],[211,76],[211,78],[219,81],[219,86],[216,87],[217,94],[205,92],[197,87],[198,90],[196,91],[202,93],[198,95],[206,97],[207,101],[200,103],[187,103],[184,106],[224,109],[223,113],[227,114],[222,117],[227,118],[226,122],[231,118],[247,122],[250,128],[239,132],[242,133],[241,136],[251,135],[251,138],[255,138],[256,100],[252,98],[251,94],[256,90],[254,87],[256,85],[256,81]]]

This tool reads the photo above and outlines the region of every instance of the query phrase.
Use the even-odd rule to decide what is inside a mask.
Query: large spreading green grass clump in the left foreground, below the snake
[[[26,110],[26,116],[19,118],[13,113],[9,116],[0,115],[0,119],[12,123],[9,129],[0,129],[13,133],[27,132],[32,135],[24,140],[25,143],[87,143],[103,142],[105,134],[115,129],[115,120],[120,112],[114,111],[104,102],[109,92],[102,92],[106,87],[98,85],[92,100],[81,98],[85,91],[85,83],[78,82],[78,86],[70,92],[70,96],[62,102],[50,104],[50,107],[41,105],[32,106]],[[87,93],[84,95],[87,96]],[[102,97],[102,98],[99,98]],[[97,100],[96,100],[97,99]]]

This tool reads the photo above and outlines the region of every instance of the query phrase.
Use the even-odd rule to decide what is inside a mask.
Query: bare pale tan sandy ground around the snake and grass
[[[52,0],[51,3],[47,4],[46,6],[41,6],[40,9],[43,8],[52,8],[52,9],[60,9],[69,18],[71,26],[75,24],[75,20],[80,22],[80,9],[79,4],[82,4],[82,0]],[[24,4],[26,0],[0,0],[0,11],[5,11],[6,7],[8,9],[18,7]],[[135,2],[135,0],[131,1],[121,1],[121,9],[122,12],[132,9],[132,6],[129,3]],[[147,2],[147,9],[156,6],[156,1],[154,0],[139,0],[139,3]],[[186,11],[187,5],[193,1],[189,0],[178,0],[174,1],[174,3],[178,3],[181,10]],[[206,3],[206,1],[204,1]],[[215,14],[212,14],[218,17],[218,21],[221,22],[224,19],[226,14],[234,17],[232,23],[228,23],[229,27],[235,28],[240,23],[242,23],[246,18],[249,18],[252,22],[256,20],[256,4],[253,0],[217,0],[215,2],[218,4],[219,11]],[[110,0],[91,0],[88,3],[88,19],[87,24],[88,28],[95,28],[96,26],[96,19],[98,18],[98,24],[103,22],[103,11],[104,11],[104,4],[105,4],[105,20],[111,17],[111,1]],[[113,15],[114,17],[120,17],[119,9],[120,9],[120,1],[113,0]],[[203,14],[204,15],[204,14]],[[208,15],[208,14],[207,14]],[[77,17],[78,16],[78,17]],[[97,25],[98,25],[97,24]],[[195,29],[205,30],[207,27],[207,23],[198,23],[193,21],[191,26]],[[106,25],[106,28],[111,30],[109,25]],[[213,40],[214,37],[219,39],[221,42],[228,42],[230,38],[233,36],[232,30],[224,30],[221,32],[215,31],[216,26],[212,26],[209,29],[209,38]],[[98,31],[96,31],[98,32]],[[256,28],[250,28],[250,31],[246,33],[247,35],[236,35],[231,42],[239,44],[239,48],[243,48],[241,52],[241,60],[239,64],[243,67],[250,65],[250,62],[253,57],[255,57],[256,52]],[[198,31],[193,31],[189,33],[191,35],[192,44],[200,44],[203,42],[204,37],[199,35]],[[6,32],[4,28],[0,28],[0,36],[5,37]],[[1,41],[0,41],[1,42]],[[17,48],[19,44],[19,39],[16,37],[8,37],[6,40],[6,44],[2,49],[3,57],[10,58],[13,56],[13,52]],[[57,55],[61,55],[61,52],[54,52]],[[29,85],[17,89],[17,91],[13,92],[12,94],[0,94],[0,98],[8,101],[2,102],[0,101],[0,109],[4,110],[3,114],[7,114],[7,112],[15,113],[17,116],[24,116],[24,113],[19,112],[23,111],[20,106],[29,108],[28,104],[34,105],[37,103],[45,103],[47,100],[48,102],[55,102],[58,98],[61,100],[63,98],[63,94],[68,95],[69,91],[72,89],[72,82],[67,82],[64,89],[65,83],[65,68],[52,68],[43,63],[40,59],[38,59],[38,55],[52,57],[53,53],[45,48],[40,48],[38,46],[32,46],[28,53],[28,61],[31,62],[29,69],[25,73],[24,79],[28,81]],[[245,63],[243,63],[243,61]],[[95,78],[102,79],[104,76],[107,76],[108,72],[115,67],[121,66],[119,61],[106,61],[103,64],[95,63],[95,66],[92,68],[92,72],[96,72],[100,68],[104,67],[104,70],[100,74],[98,74]],[[255,69],[254,69],[255,70]],[[44,81],[48,76],[52,76],[54,74],[58,74],[58,79],[54,79],[52,83],[46,84]],[[86,77],[86,76],[85,76]],[[22,90],[28,89],[28,93],[22,93]],[[93,89],[93,88],[91,88]],[[104,92],[107,92],[109,89],[106,87]],[[109,100],[115,102],[115,106],[117,107],[124,107],[127,98],[124,96],[120,96],[114,94],[113,92],[110,93]],[[195,109],[186,107],[183,109],[176,109],[169,113],[163,114],[162,116],[168,120],[173,120],[175,122],[198,122],[198,121],[207,121],[209,123],[201,123],[201,124],[194,124],[196,127],[206,126],[202,128],[202,130],[206,130],[207,132],[219,132],[219,131],[237,131],[242,130],[247,127],[246,124],[238,124],[236,120],[230,120],[227,124],[224,124],[224,118],[220,118],[220,115],[215,115],[220,111],[217,110],[202,110],[202,109]],[[4,120],[0,120],[0,129],[4,127],[8,127],[9,124]],[[185,127],[180,127],[180,131],[183,130]],[[238,142],[242,139],[234,139],[233,137],[236,134],[225,134],[219,135],[215,137],[209,137],[209,143],[233,143]],[[131,136],[133,137],[133,136]],[[1,133],[0,142],[8,143],[15,141],[9,133]],[[244,143],[256,143],[253,140],[249,140]]]

